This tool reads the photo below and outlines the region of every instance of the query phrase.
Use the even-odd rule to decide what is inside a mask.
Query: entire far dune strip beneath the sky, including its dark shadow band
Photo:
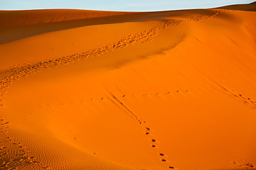
[[[187,14],[203,13],[191,10]],[[184,11],[161,12],[110,12],[82,10],[0,11],[0,43],[11,42],[33,35],[67,30],[83,26],[111,23],[164,20],[164,17],[181,16]]]

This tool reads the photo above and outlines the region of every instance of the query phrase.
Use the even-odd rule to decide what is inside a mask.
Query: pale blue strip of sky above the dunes
[[[0,10],[75,8],[101,11],[165,11],[248,4],[255,0],[0,0]]]

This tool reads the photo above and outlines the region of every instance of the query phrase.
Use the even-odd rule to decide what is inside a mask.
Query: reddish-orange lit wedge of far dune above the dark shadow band
[[[65,21],[82,20],[86,18],[99,18],[105,16],[118,16],[127,12],[90,11],[75,9],[46,9],[29,11],[1,11],[1,29],[31,26],[43,23],[57,23]]]

